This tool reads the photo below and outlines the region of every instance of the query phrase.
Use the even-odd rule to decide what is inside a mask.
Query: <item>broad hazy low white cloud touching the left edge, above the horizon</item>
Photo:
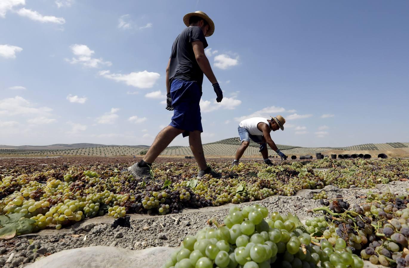
[[[32,103],[20,96],[0,100],[0,116],[48,116],[51,111],[52,109],[49,107],[34,107]]]

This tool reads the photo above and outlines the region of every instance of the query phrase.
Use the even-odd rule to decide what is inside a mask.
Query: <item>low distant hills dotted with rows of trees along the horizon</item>
[[[221,141],[203,144],[203,151],[207,156],[234,156],[240,146],[240,138],[227,138]],[[258,144],[250,142],[244,156],[259,156]],[[301,147],[277,144],[277,147],[288,156],[311,154],[353,154],[369,153],[377,155],[386,153],[389,156],[409,156],[409,143],[367,143],[347,147]],[[104,145],[96,143],[52,144],[44,146],[9,146],[0,145],[0,156],[133,156],[146,153],[147,145]],[[268,148],[270,155],[275,155]],[[191,156],[189,146],[170,146],[162,156]]]

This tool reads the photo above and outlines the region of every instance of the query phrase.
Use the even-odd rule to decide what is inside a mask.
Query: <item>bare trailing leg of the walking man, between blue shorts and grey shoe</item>
[[[165,150],[169,143],[171,143],[171,141],[173,141],[173,139],[182,132],[184,132],[184,130],[179,130],[169,125],[166,126],[157,134],[155,141],[153,141],[151,147],[144,156],[144,161],[150,164],[153,163],[153,161],[155,161],[160,153]]]

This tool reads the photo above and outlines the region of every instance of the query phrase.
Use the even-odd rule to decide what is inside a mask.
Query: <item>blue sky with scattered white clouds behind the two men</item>
[[[0,144],[150,145],[196,10],[216,25],[206,52],[225,96],[204,79],[203,143],[277,114],[279,144],[409,141],[408,1],[0,0]]]

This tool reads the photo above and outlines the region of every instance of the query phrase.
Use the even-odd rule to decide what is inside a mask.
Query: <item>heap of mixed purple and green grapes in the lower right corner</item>
[[[392,194],[390,191],[369,192],[367,201],[350,208],[340,196],[330,202],[321,200],[326,206],[310,211],[323,212],[327,224],[323,228],[307,229],[311,233],[315,231],[313,237],[328,239],[332,246],[342,239],[347,248],[369,259],[372,264],[398,268],[409,266],[408,195]],[[307,221],[312,226],[314,219]]]

